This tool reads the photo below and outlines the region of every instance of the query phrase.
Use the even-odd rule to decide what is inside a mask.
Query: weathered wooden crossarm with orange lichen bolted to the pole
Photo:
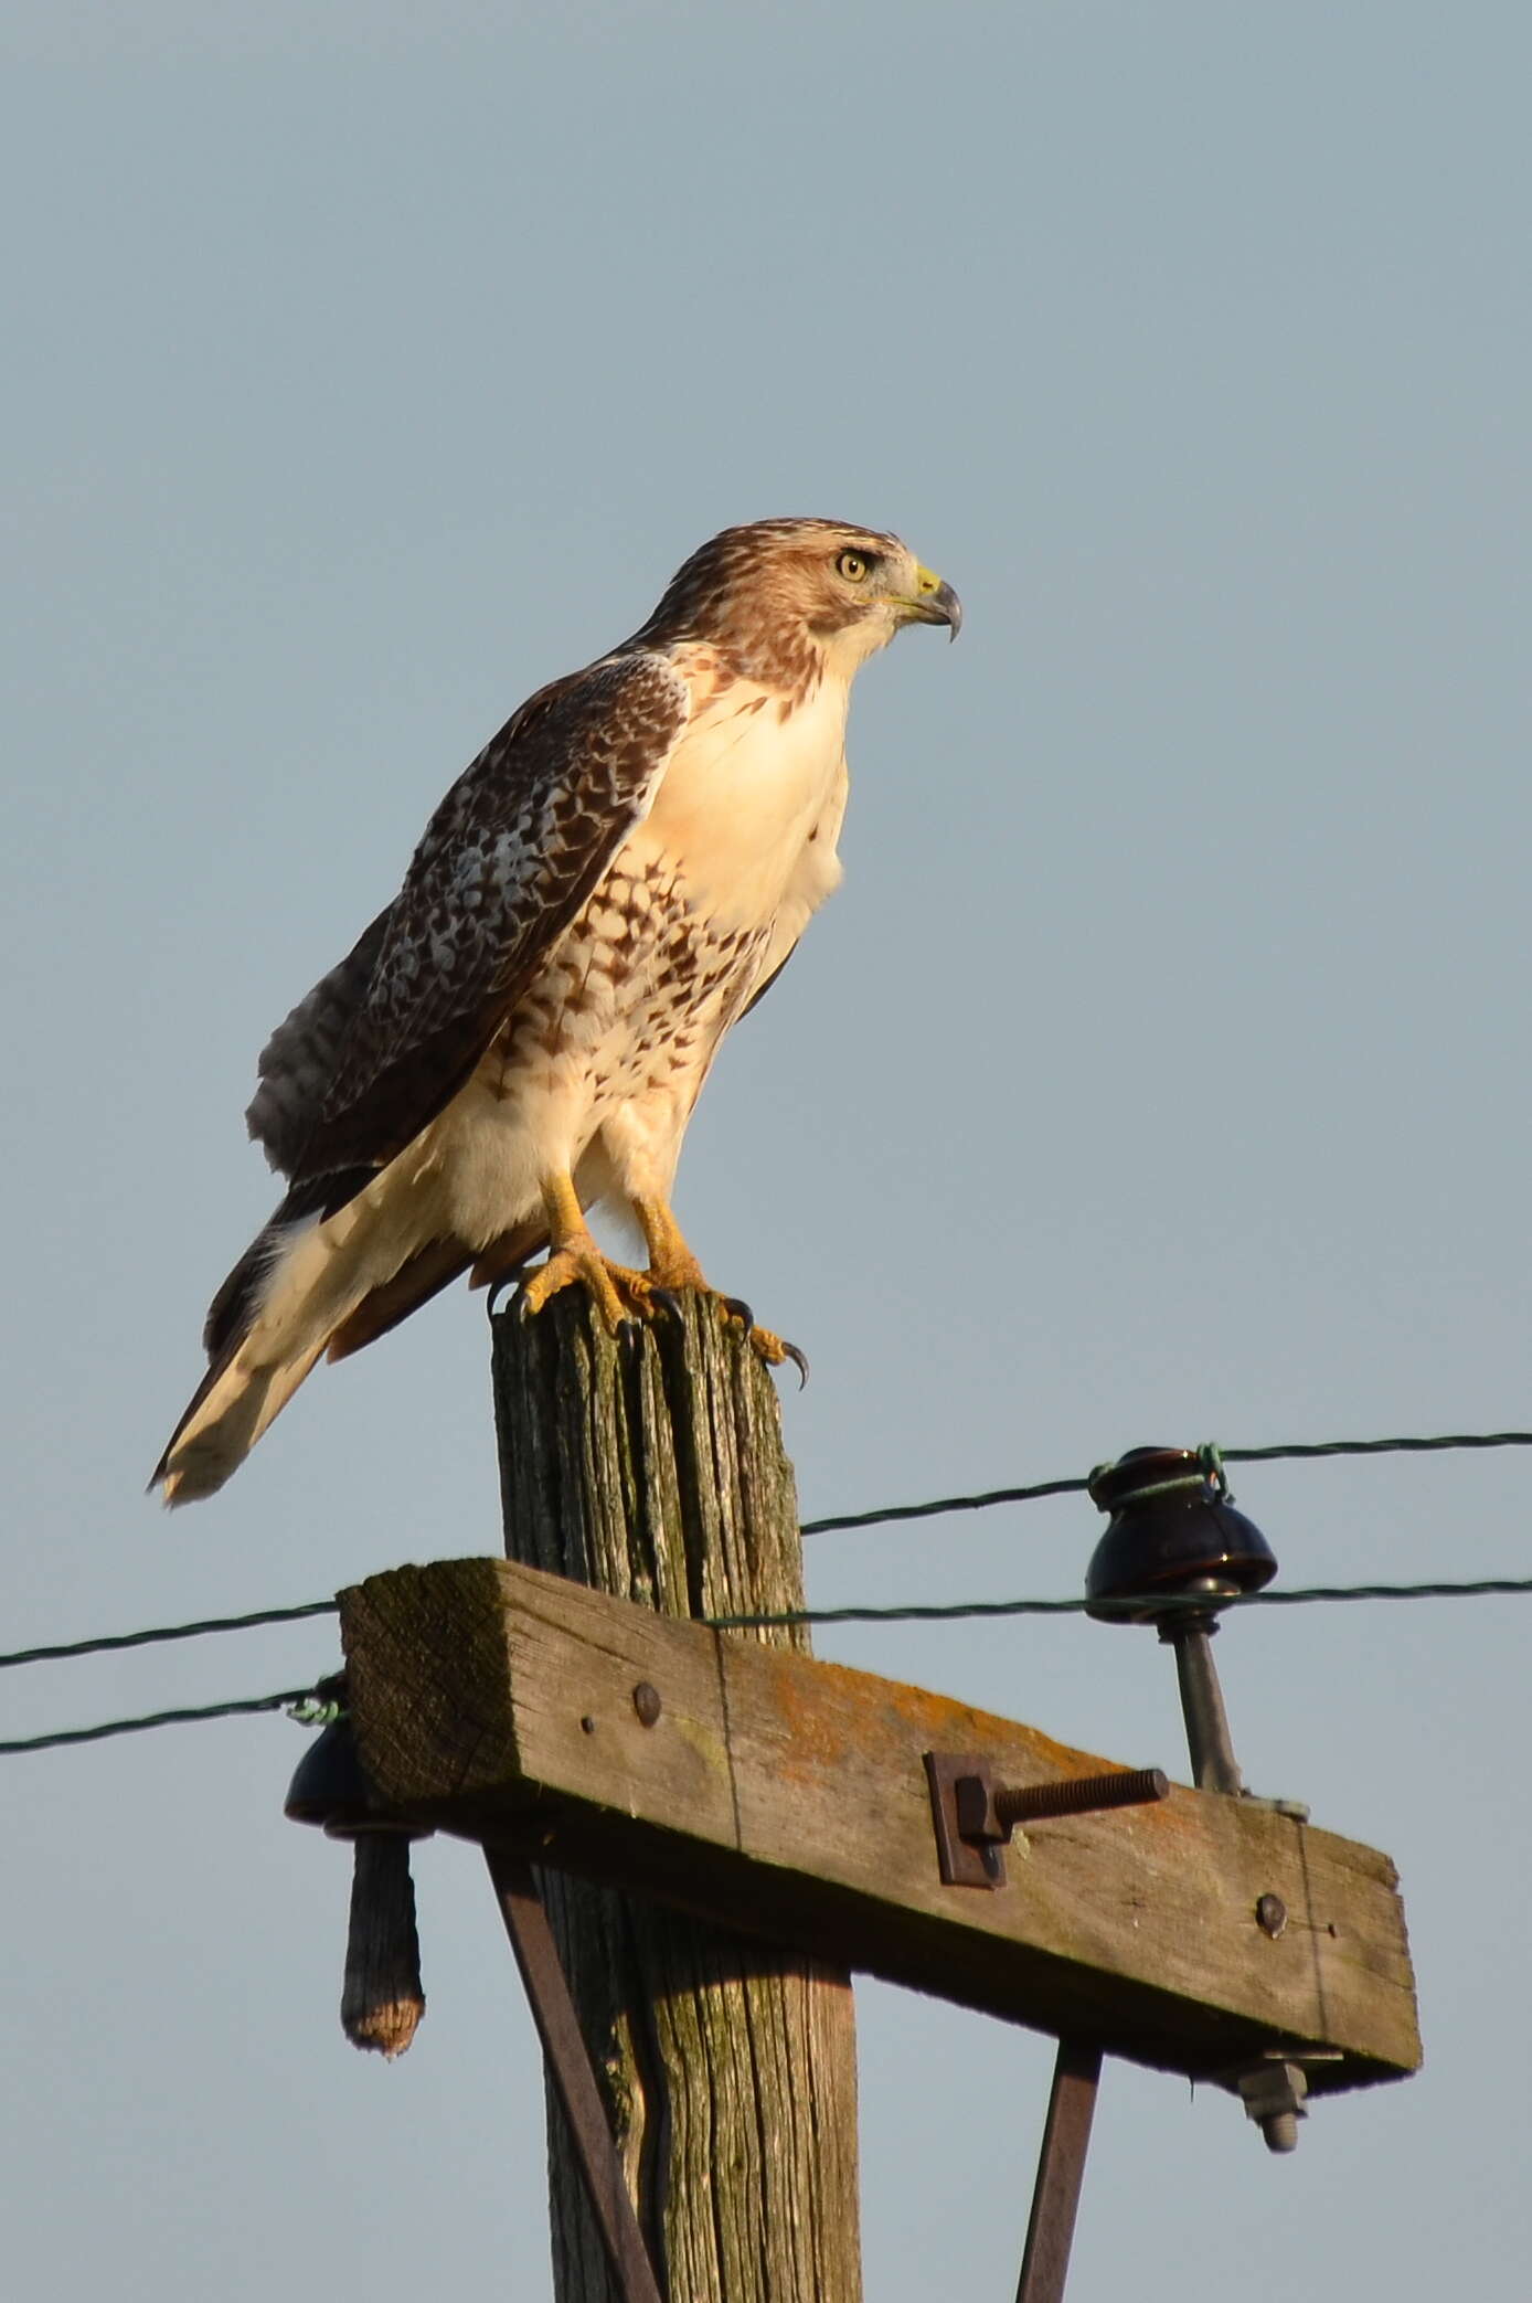
[[[1313,2091],[1419,2063],[1371,1847],[1175,1787],[1030,1826],[998,1891],[942,1886],[924,1753],[984,1753],[1007,1783],[1108,1762],[498,1559],[376,1575],[341,1594],[341,1635],[362,1762],[415,1822],[1193,2077],[1274,2045],[1334,2052]]]

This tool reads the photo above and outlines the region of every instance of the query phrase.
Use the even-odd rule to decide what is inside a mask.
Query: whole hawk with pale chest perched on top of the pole
[[[221,1488],[323,1352],[461,1271],[546,1248],[523,1308],[578,1280],[613,1329],[705,1287],[675,1163],[719,1041],[841,877],[850,684],[901,624],[958,620],[898,537],[726,527],[631,640],[507,721],[260,1055],[249,1131],[290,1188],[212,1299],[166,1502]],[[645,1271],[594,1244],[601,1200]]]

